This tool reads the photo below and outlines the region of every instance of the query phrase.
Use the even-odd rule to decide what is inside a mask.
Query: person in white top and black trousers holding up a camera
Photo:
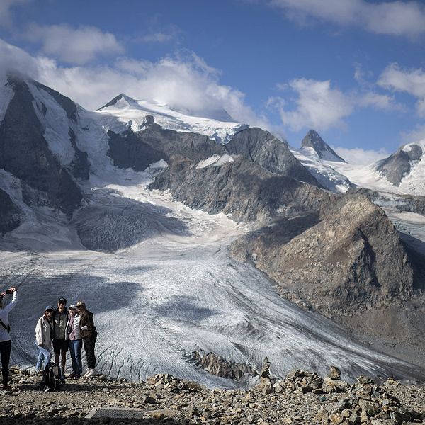
[[[11,302],[4,305],[3,300],[7,294],[13,294]],[[8,314],[16,305],[16,288],[12,287],[0,294],[0,355],[1,374],[3,378],[3,389],[11,390],[8,385],[8,365],[11,360],[12,341],[10,336],[11,326],[8,322]]]

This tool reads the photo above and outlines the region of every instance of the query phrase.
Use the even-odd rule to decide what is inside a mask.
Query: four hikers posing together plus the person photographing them
[[[4,297],[12,295],[12,300],[4,305]],[[3,389],[10,390],[8,385],[8,370],[11,356],[11,327],[8,314],[15,307],[17,300],[16,288],[9,288],[0,294],[0,353]],[[60,366],[61,379],[64,380],[67,352],[72,361],[72,373],[68,379],[91,378],[96,375],[96,356],[94,348],[97,331],[94,325],[93,313],[86,308],[84,301],[67,307],[67,300],[60,297],[57,307],[47,305],[45,312],[38,319],[35,327],[35,341],[38,346],[38,359],[35,370],[42,374],[52,362],[52,351],[55,353],[55,363]],[[81,351],[84,346],[87,360],[87,370],[83,375]]]

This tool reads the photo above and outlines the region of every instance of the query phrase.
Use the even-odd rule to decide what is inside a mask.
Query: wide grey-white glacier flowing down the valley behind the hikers
[[[89,205],[149,205],[154,225],[140,243],[113,253],[86,249],[76,229],[47,208],[34,208],[26,225],[2,239],[1,280],[22,294],[11,314],[12,364],[35,364],[35,323],[45,305],[64,296],[68,304],[85,300],[94,312],[97,368],[117,378],[171,373],[208,387],[252,384],[249,376],[237,382],[208,374],[191,363],[193,351],[257,370],[267,356],[278,376],[293,368],[324,374],[330,365],[348,380],[359,373],[421,376],[414,365],[371,351],[329,319],[284,300],[253,265],[230,259],[229,244],[248,225],[191,210],[169,193],[147,190],[149,181],[148,171],[91,177]]]

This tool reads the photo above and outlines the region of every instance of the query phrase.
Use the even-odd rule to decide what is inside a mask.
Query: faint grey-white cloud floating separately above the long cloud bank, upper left
[[[115,35],[103,33],[93,26],[73,28],[67,24],[31,25],[24,38],[41,43],[45,55],[56,57],[69,64],[86,64],[100,55],[115,55],[124,52],[124,47]]]

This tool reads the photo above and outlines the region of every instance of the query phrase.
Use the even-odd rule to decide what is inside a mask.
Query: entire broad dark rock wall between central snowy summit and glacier
[[[317,184],[287,145],[261,129],[239,132],[230,147],[195,133],[163,130],[154,123],[137,134],[128,130],[123,135],[110,132],[109,136],[109,154],[115,165],[140,171],[165,159],[168,169],[156,177],[151,188],[171,189],[174,198],[191,208],[225,212],[234,220],[269,220],[275,215],[317,209],[319,203],[332,197],[316,186],[290,178],[295,174]],[[237,156],[220,166],[198,167],[200,161],[226,154]]]

